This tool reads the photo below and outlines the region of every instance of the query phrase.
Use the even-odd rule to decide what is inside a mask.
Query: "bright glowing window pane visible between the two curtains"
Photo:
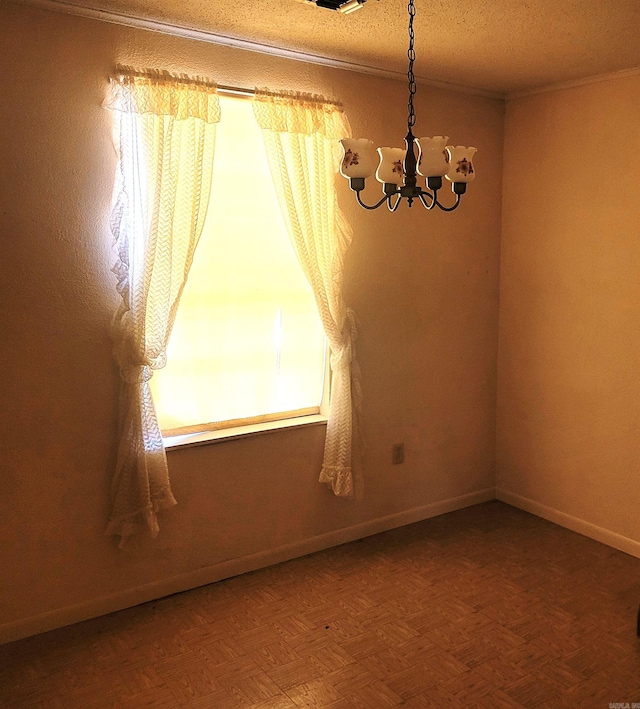
[[[326,347],[250,101],[220,97],[207,219],[151,380],[164,435],[319,413]]]

